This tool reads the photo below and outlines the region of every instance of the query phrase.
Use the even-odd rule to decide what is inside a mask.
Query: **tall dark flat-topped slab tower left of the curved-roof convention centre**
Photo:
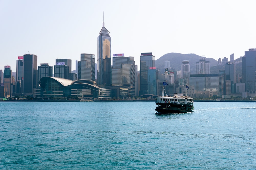
[[[34,54],[25,54],[23,57],[24,57],[23,92],[26,94],[32,95],[33,89],[37,88],[37,56]]]

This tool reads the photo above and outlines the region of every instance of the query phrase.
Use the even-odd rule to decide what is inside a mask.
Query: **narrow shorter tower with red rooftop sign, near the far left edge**
[[[10,66],[4,66],[4,97],[12,95],[12,70]]]

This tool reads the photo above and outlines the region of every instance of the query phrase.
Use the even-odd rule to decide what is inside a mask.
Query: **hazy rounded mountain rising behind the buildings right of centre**
[[[212,66],[218,65],[218,61],[213,58],[206,58],[196,54],[168,53],[155,60],[155,66],[156,69],[161,71],[161,73],[164,73],[164,62],[170,61],[170,67],[176,71],[179,71],[181,70],[182,61],[188,60],[190,64],[190,73],[195,74],[196,61],[199,61],[200,58],[205,58],[205,61],[210,61],[210,72]],[[218,72],[216,74],[218,74]]]

